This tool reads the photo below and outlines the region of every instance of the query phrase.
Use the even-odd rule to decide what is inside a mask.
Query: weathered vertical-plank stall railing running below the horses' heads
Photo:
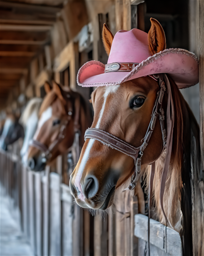
[[[1,187],[34,255],[148,255],[147,216],[138,214],[133,191],[117,195],[115,213],[92,217],[74,202],[58,173],[49,167],[30,171],[17,156],[0,152]],[[165,238],[164,225],[151,219],[150,226],[151,255],[181,255],[179,233],[167,228]]]

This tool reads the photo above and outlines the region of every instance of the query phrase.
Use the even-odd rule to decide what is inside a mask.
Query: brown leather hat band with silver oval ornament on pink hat
[[[135,66],[139,65],[139,63],[133,62],[113,62],[105,65],[105,73],[108,72],[130,72]]]

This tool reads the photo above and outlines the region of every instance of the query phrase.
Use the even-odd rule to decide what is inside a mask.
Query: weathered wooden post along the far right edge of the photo
[[[199,94],[200,94],[200,146],[201,170],[194,172],[193,202],[193,254],[204,255],[204,1],[199,1]]]

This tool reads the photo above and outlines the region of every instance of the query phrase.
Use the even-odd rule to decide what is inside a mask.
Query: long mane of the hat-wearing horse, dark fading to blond
[[[187,186],[187,181],[184,181],[184,176],[189,176],[187,172],[191,171],[191,167],[186,170],[184,167],[186,158],[191,157],[191,147],[188,145],[191,140],[191,127],[194,126],[195,133],[199,134],[199,126],[193,113],[191,112],[188,103],[185,101],[180,90],[168,76],[173,104],[174,104],[174,130],[173,130],[173,143],[172,153],[170,159],[170,166],[165,186],[164,193],[164,210],[167,215],[169,226],[175,229],[177,232],[182,230],[183,211],[182,209],[182,193],[184,193],[184,186]],[[187,152],[188,151],[188,152]],[[188,155],[188,157],[187,157]],[[156,161],[155,176],[153,182],[153,203],[152,217],[158,219],[161,223],[165,224],[165,218],[160,207],[160,180],[162,177],[162,171],[164,168],[164,160],[166,156],[166,150]],[[189,163],[191,166],[191,163]],[[149,188],[149,176],[151,166],[143,168],[143,177],[145,177],[145,190]],[[190,178],[189,178],[190,179]],[[191,190],[187,193],[188,201],[191,200]]]

